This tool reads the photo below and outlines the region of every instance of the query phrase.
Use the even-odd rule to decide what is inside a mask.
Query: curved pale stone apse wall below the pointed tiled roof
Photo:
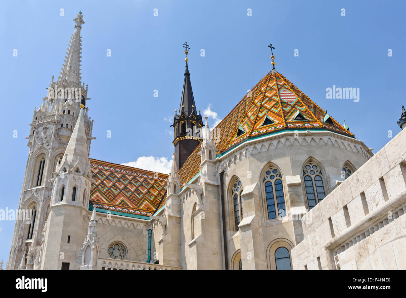
[[[243,187],[258,184],[263,249],[266,252],[266,266],[275,269],[274,252],[278,247],[289,251],[303,240],[299,220],[268,219],[266,212],[263,173],[272,163],[281,170],[287,212],[306,213],[302,168],[313,158],[322,167],[326,195],[341,178],[343,164],[350,161],[356,169],[361,167],[373,154],[361,141],[329,132],[299,133],[285,132],[264,139],[247,141],[244,146],[227,152],[220,159],[227,163],[225,179],[225,222],[227,231],[228,266],[231,269],[241,249],[240,231],[235,232],[231,184],[237,177]],[[244,209],[244,202],[243,202]]]

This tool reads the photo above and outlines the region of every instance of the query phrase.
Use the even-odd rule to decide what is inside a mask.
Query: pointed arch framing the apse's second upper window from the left
[[[259,182],[262,185],[263,204],[268,219],[286,216],[284,178],[281,169],[268,162],[261,170]]]

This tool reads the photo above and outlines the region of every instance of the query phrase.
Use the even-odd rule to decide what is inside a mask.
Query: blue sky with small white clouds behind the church
[[[196,105],[211,127],[270,71],[272,43],[276,70],[377,152],[390,141],[388,131],[400,131],[406,104],[405,9],[403,1],[3,1],[0,209],[18,207],[28,124],[59,75],[79,10],[82,81],[97,137],[90,157],[162,172],[173,152],[185,41]],[[360,100],[326,99],[333,85],[359,88]],[[13,229],[14,222],[0,221],[4,266]]]

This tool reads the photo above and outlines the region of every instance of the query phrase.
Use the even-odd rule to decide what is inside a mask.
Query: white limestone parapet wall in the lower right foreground
[[[406,130],[302,219],[294,269],[406,269]]]

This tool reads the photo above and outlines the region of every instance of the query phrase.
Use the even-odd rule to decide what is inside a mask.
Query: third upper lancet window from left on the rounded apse
[[[326,194],[324,192],[323,185],[323,173],[320,165],[314,161],[309,161],[304,165],[303,178],[304,186],[306,187],[307,203],[309,210],[311,210],[316,204],[320,203]]]

